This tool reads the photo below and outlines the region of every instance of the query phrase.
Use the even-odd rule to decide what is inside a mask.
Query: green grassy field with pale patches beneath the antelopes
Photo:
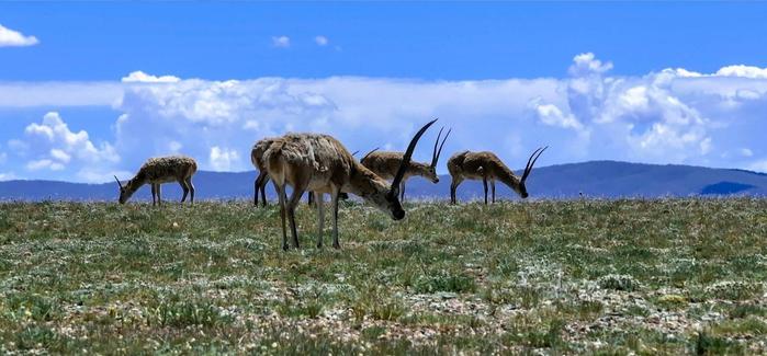
[[[406,208],[0,204],[0,354],[767,353],[767,200]]]

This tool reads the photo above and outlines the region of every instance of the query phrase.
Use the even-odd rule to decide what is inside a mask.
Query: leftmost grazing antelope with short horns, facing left
[[[136,176],[127,181],[125,185],[114,179],[120,185],[120,204],[125,204],[131,196],[144,184],[151,184],[151,205],[161,204],[160,184],[179,182],[183,190],[181,203],[187,200],[190,194],[190,202],[194,204],[194,185],[192,175],[198,171],[198,162],[185,156],[169,156],[148,159],[136,173]]]

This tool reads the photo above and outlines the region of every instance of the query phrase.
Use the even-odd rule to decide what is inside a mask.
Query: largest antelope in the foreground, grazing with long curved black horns
[[[313,191],[317,197],[319,216],[319,234],[317,248],[323,246],[324,193],[330,194],[332,208],[332,246],[340,249],[338,242],[338,196],[341,191],[359,195],[379,209],[386,211],[394,220],[405,217],[399,203],[399,183],[410,163],[413,150],[418,139],[432,120],[421,127],[413,137],[403,157],[397,174],[390,185],[382,177],[358,162],[347,149],[331,136],[320,134],[287,134],[279,142],[272,143],[263,156],[269,176],[278,188],[280,198],[280,217],[282,218],[282,249],[287,250],[287,230],[285,217],[290,220],[293,246],[298,248],[298,234],[295,227],[295,207],[304,191]],[[291,185],[293,193],[287,199],[285,186]]]

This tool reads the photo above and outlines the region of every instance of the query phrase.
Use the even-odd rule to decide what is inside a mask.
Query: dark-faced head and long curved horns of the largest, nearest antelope
[[[397,174],[394,175],[394,181],[392,181],[391,185],[387,185],[386,181],[373,174],[373,172],[368,171],[372,175],[371,180],[374,182],[373,184],[376,188],[375,193],[368,194],[366,196],[363,196],[363,198],[369,199],[379,209],[388,213],[394,220],[402,220],[405,217],[405,210],[402,207],[402,203],[399,203],[399,183],[402,182],[403,177],[405,177],[405,172],[410,165],[410,158],[413,157],[413,151],[416,149],[418,140],[424,133],[426,133],[426,129],[429,128],[429,126],[431,126],[435,122],[437,122],[437,119],[424,125],[424,127],[416,133],[416,136],[413,137],[413,140],[410,140],[410,145],[407,146],[407,150],[405,151],[403,160],[399,163]]]

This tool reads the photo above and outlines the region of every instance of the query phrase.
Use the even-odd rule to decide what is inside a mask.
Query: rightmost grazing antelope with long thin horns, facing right
[[[455,190],[464,180],[482,180],[485,187],[485,204],[487,204],[487,181],[490,182],[490,187],[493,188],[493,203],[495,203],[496,180],[508,185],[522,198],[527,198],[528,190],[525,186],[525,182],[528,176],[530,176],[535,161],[538,161],[538,158],[541,157],[546,148],[549,147],[539,148],[532,152],[530,159],[528,159],[528,164],[525,166],[522,177],[514,175],[514,172],[511,172],[511,170],[493,152],[463,151],[453,154],[453,157],[448,160],[448,171],[450,171],[450,175],[452,176],[452,183],[450,184],[450,203],[458,203],[455,199]]]

